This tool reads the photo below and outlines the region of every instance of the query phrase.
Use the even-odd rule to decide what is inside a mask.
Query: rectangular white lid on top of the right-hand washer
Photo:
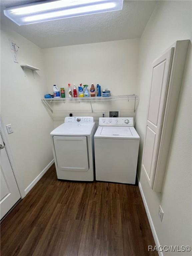
[[[129,127],[103,127],[101,135],[133,136]]]

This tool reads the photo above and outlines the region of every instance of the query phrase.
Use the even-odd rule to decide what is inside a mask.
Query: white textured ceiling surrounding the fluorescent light
[[[155,7],[155,1],[125,1],[123,10],[48,21],[19,27],[3,14],[6,7],[35,1],[1,0],[1,25],[41,48],[137,38]]]

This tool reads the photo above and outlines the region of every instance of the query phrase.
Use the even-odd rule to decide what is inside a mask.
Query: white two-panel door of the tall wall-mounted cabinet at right
[[[153,187],[174,47],[154,61],[142,168]]]

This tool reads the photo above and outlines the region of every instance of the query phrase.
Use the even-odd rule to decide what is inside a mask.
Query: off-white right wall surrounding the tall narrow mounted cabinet
[[[161,193],[150,189],[145,174],[141,171],[141,160],[152,62],[176,40],[183,39],[191,39],[191,1],[159,1],[140,39],[140,101],[136,114],[136,129],[141,137],[139,180],[159,243],[168,246],[191,245],[191,43]],[[158,217],[159,205],[164,211],[162,223]],[[188,255],[191,255],[191,252]]]

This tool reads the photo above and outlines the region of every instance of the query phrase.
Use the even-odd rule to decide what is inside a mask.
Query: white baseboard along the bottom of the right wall
[[[153,221],[152,221],[152,218],[151,218],[151,215],[150,215],[150,212],[149,212],[149,208],[148,208],[148,206],[147,206],[147,202],[146,202],[146,200],[145,200],[145,196],[144,196],[144,193],[143,193],[143,189],[142,189],[142,187],[141,187],[141,183],[140,183],[140,181],[139,181],[139,179],[138,179],[138,176],[137,176],[137,181],[138,181],[139,190],[140,190],[140,192],[141,192],[141,196],[142,196],[142,199],[143,199],[143,203],[144,203],[144,206],[145,206],[145,211],[146,211],[146,213],[147,213],[147,217],[148,217],[149,224],[150,224],[150,227],[151,227],[151,231],[152,231],[152,234],[153,234],[153,238],[154,238],[154,240],[155,240],[155,245],[156,245],[157,247],[159,247],[159,246],[160,246],[159,240],[158,240],[158,237],[157,237],[157,234],[156,234],[156,231],[155,231],[155,227],[154,227],[154,225],[153,225]],[[163,256],[163,252],[159,252],[159,251],[158,251],[158,254],[159,254],[159,256]]]

